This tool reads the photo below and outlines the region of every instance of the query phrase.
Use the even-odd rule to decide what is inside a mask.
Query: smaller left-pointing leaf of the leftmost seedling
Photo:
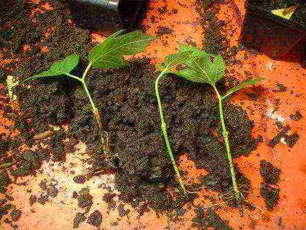
[[[24,81],[29,81],[35,78],[41,78],[41,77],[51,77],[51,76],[58,76],[58,75],[69,75],[69,73],[75,68],[75,66],[79,63],[79,56],[76,54],[72,54],[68,57],[66,57],[62,61],[56,61],[53,63],[53,65],[49,68],[49,70],[44,71],[40,74],[37,74],[35,76],[29,77]]]

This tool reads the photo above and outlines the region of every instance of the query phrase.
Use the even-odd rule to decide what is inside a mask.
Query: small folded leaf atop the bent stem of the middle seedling
[[[157,67],[161,70],[170,70],[170,68],[175,67],[176,65],[185,63],[192,54],[192,51],[183,51],[176,54],[170,54],[165,58],[163,64],[158,65]]]

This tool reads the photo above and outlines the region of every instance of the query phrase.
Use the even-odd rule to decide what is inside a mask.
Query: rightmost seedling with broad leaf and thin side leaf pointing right
[[[245,81],[232,89],[228,90],[227,93],[224,96],[221,96],[217,87],[216,83],[220,79],[222,79],[223,75],[225,74],[225,61],[220,55],[212,55],[208,54],[204,51],[200,51],[198,48],[195,47],[189,47],[188,45],[181,45],[182,52],[188,52],[192,51],[192,58],[186,60],[186,68],[181,71],[177,71],[175,74],[179,75],[189,81],[197,82],[197,83],[205,83],[210,84],[218,98],[218,107],[219,107],[219,113],[220,113],[220,122],[222,127],[222,135],[224,139],[224,144],[226,148],[226,157],[228,160],[228,164],[230,166],[230,173],[231,178],[233,182],[233,188],[234,188],[234,194],[236,197],[237,204],[240,208],[240,199],[241,194],[237,186],[236,176],[235,176],[235,169],[231,154],[231,148],[230,148],[230,142],[228,140],[228,132],[226,130],[226,125],[224,122],[223,117],[223,108],[222,108],[222,101],[224,99],[227,99],[229,96],[231,96],[236,91],[248,86],[248,85],[254,85],[258,82],[262,81],[264,78],[256,78],[251,79],[248,81]]]

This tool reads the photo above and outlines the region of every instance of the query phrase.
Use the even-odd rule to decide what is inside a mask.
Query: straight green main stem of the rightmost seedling
[[[233,181],[233,188],[234,188],[234,193],[235,197],[237,200],[237,203],[239,204],[240,201],[240,192],[238,190],[237,182],[236,182],[236,176],[235,176],[235,169],[234,169],[234,164],[233,164],[233,159],[232,159],[232,154],[231,154],[231,148],[230,148],[230,142],[228,142],[228,132],[226,130],[225,122],[224,122],[224,117],[223,117],[223,108],[222,108],[222,98],[219,94],[218,89],[216,86],[213,86],[217,97],[219,101],[219,112],[220,112],[220,121],[221,121],[221,126],[222,126],[222,134],[223,134],[223,139],[226,147],[226,156],[228,160],[228,165],[230,165],[230,171],[231,171],[231,177]]]

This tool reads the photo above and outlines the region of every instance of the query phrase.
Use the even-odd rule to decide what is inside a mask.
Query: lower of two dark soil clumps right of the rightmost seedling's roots
[[[266,183],[261,184],[260,194],[264,198],[268,210],[271,211],[274,206],[277,205],[279,200],[279,191],[280,189],[273,188]]]

